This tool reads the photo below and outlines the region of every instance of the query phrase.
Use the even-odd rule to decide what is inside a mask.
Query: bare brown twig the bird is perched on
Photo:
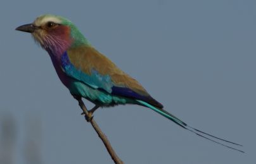
[[[93,126],[94,130],[97,132],[99,138],[101,139],[101,141],[103,141],[112,160],[117,164],[123,164],[124,162],[117,156],[117,154],[115,153],[114,149],[112,148],[112,146],[110,144],[110,141],[108,141],[108,138],[106,138],[106,135],[101,131],[98,124],[93,119],[91,112],[87,110],[86,105],[84,105],[84,102],[82,101],[82,98],[75,97],[75,96],[74,96],[74,98],[77,99],[77,101],[79,102],[79,106],[82,109],[82,111],[84,112],[87,122],[91,122],[91,125]]]

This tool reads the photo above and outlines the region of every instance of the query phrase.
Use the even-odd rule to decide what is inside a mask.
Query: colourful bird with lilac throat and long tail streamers
[[[18,26],[15,30],[31,33],[35,42],[48,52],[60,81],[74,98],[86,98],[94,103],[93,109],[89,110],[89,116],[92,117],[93,112],[99,107],[140,105],[150,108],[202,138],[244,153],[227,145],[242,146],[241,144],[191,127],[163,109],[162,103],[151,97],[136,79],[96,50],[77,26],[67,18],[50,14],[41,15],[32,23]],[[87,121],[90,119],[87,118]]]

